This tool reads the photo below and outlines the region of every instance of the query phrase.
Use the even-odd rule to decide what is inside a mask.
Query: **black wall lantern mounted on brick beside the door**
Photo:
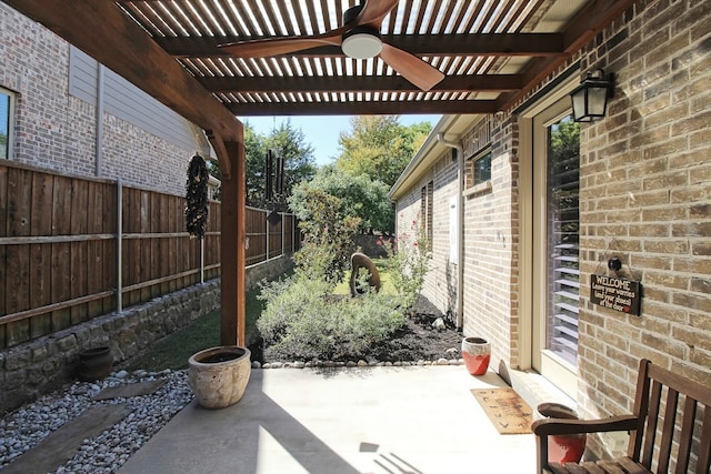
[[[575,122],[594,122],[604,117],[608,99],[614,91],[614,75],[602,69],[588,71],[588,77],[570,93]]]

